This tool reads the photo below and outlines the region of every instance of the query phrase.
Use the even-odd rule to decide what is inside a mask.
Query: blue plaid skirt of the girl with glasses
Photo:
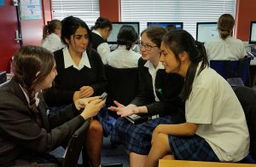
[[[122,144],[129,152],[148,155],[151,135],[158,124],[172,124],[171,116],[148,120],[143,124],[131,124],[126,118],[118,118],[113,126],[110,141]]]

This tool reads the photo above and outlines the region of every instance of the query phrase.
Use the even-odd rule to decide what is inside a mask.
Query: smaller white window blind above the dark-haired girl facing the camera
[[[73,15],[84,20],[86,24],[94,26],[100,16],[98,0],[51,0],[53,19],[62,20]]]

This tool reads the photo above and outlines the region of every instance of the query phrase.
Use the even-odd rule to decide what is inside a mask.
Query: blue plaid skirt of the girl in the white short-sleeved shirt
[[[174,158],[178,160],[219,162],[212,147],[199,135],[173,136],[169,135],[169,146]]]

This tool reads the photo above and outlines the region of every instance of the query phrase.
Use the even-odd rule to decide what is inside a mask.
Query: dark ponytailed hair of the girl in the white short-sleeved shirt
[[[206,49],[203,43],[195,41],[194,37],[184,30],[176,30],[172,32],[168,32],[163,37],[163,43],[172,50],[176,59],[179,62],[179,66],[181,66],[181,61],[179,60],[178,55],[182,52],[186,52],[189,55],[189,60],[191,60],[191,64],[189,66],[188,72],[185,77],[185,83],[183,86],[183,90],[181,92],[181,99],[186,101],[189,99],[189,95],[192,90],[192,84],[194,82],[196,69],[199,62],[202,61],[200,70],[197,75],[201,73],[203,69],[209,66],[207,60]]]

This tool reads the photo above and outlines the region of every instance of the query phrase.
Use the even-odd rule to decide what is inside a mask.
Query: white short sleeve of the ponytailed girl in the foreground
[[[192,89],[186,101],[186,120],[188,123],[211,124],[214,94],[206,88]]]

